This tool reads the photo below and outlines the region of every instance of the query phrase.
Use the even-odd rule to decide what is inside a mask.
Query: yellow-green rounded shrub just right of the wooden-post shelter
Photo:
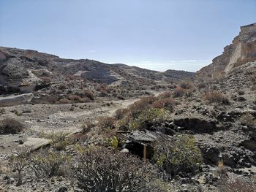
[[[195,173],[203,158],[192,136],[182,134],[170,140],[159,140],[154,146],[154,160],[170,177],[178,172]]]

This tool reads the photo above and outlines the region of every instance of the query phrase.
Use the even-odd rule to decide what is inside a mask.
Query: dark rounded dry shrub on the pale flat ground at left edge
[[[18,134],[24,128],[23,124],[12,118],[0,121],[0,134]]]

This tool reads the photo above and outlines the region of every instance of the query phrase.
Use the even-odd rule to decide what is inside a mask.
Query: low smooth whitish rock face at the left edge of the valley
[[[18,96],[4,96],[0,97],[0,104],[29,104],[31,99],[33,99],[32,93],[26,93]]]

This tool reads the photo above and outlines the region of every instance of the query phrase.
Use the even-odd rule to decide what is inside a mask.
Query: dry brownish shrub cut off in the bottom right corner
[[[255,185],[245,178],[231,178],[224,183],[224,192],[256,192]]]

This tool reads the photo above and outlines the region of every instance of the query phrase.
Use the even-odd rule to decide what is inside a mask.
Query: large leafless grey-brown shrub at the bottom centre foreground
[[[84,150],[71,169],[78,187],[86,192],[141,191],[150,175],[139,158],[102,147]]]

